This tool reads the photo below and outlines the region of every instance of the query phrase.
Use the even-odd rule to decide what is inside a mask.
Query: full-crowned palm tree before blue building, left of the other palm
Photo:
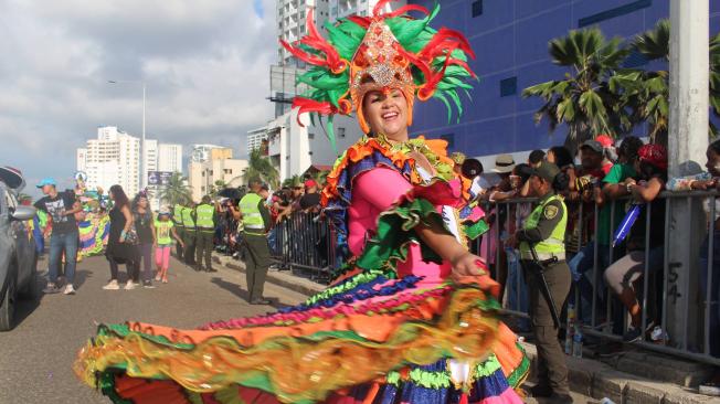
[[[564,79],[526,88],[523,97],[541,97],[546,104],[534,114],[543,117],[550,130],[568,125],[565,146],[576,146],[599,134],[621,135],[632,128],[620,95],[610,89],[608,79],[620,68],[628,51],[621,40],[606,40],[600,29],[573,30],[549,43],[552,63],[568,67]]]

